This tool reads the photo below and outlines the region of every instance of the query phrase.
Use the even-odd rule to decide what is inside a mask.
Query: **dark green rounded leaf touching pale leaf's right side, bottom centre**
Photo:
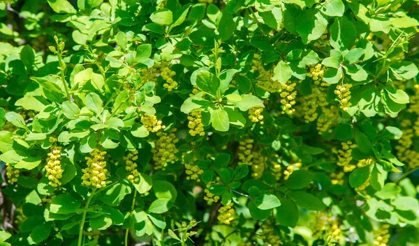
[[[300,217],[297,205],[291,199],[279,198],[279,201],[281,201],[281,206],[276,208],[275,220],[281,226],[295,227]]]

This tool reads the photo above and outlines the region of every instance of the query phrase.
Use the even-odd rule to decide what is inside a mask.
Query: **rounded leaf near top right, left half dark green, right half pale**
[[[304,44],[320,38],[328,26],[328,19],[316,8],[302,10],[296,19],[298,21],[295,24],[295,29]]]

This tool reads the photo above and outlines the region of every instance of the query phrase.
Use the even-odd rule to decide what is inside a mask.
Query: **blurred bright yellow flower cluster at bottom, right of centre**
[[[337,217],[327,214],[325,212],[312,212],[311,215],[314,216],[314,221],[311,222],[313,228],[313,235],[319,236],[321,233],[325,233],[330,241],[338,240],[341,234],[341,229],[339,226],[339,221]]]

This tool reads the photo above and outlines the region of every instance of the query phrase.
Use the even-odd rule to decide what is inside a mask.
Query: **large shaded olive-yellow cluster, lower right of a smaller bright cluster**
[[[176,143],[179,141],[176,135],[176,128],[170,133],[157,132],[159,140],[156,141],[155,148],[152,149],[154,169],[165,169],[168,163],[175,163],[179,158],[176,157],[176,153],[179,152],[176,148]]]

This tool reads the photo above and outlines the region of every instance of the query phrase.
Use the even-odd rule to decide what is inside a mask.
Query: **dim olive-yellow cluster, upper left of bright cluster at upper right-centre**
[[[262,66],[262,61],[260,61],[260,55],[254,54],[253,56],[253,65],[251,69],[258,72],[258,77],[256,77],[256,84],[259,88],[264,89],[267,92],[275,93],[281,89],[281,84],[278,82],[272,81],[273,71],[267,71]]]

